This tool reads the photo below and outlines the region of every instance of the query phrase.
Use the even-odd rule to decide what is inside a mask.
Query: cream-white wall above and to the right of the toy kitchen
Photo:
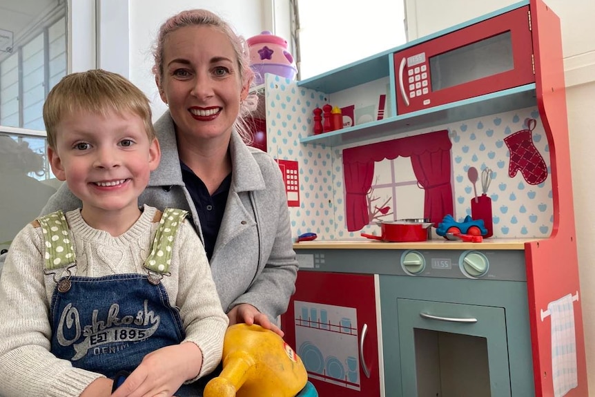
[[[409,39],[429,35],[457,23],[514,4],[514,0],[405,0]],[[545,0],[562,27],[566,97],[570,134],[578,265],[581,277],[587,374],[595,396],[595,1]]]

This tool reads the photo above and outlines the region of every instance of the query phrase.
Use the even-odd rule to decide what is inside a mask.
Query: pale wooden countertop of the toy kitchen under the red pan
[[[525,243],[545,238],[488,238],[483,242],[428,240],[424,242],[382,242],[373,240],[313,240],[293,244],[293,249],[477,249],[524,250]]]

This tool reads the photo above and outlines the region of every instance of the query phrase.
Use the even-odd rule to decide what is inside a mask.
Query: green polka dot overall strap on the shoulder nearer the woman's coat
[[[145,267],[155,273],[168,273],[173,240],[188,211],[166,208],[163,211]]]

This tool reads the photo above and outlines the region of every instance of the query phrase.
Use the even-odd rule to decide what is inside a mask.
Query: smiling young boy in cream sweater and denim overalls
[[[185,211],[139,209],[161,155],[148,99],[90,70],[50,91],[43,120],[52,171],[83,205],[40,217],[10,246],[0,396],[110,396],[121,370],[131,374],[114,397],[196,395],[228,318]]]

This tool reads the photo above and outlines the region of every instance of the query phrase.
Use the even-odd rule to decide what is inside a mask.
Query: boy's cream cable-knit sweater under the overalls
[[[161,213],[144,206],[139,220],[113,237],[92,229],[80,211],[66,213],[75,244],[73,275],[101,277],[146,273],[144,259]],[[70,397],[101,375],[77,369],[50,354],[50,302],[56,283],[44,275],[44,240],[37,222],[28,224],[10,246],[0,278],[0,396]],[[173,245],[170,276],[162,282],[172,306],[179,308],[185,341],[202,351],[199,376],[211,372],[222,357],[228,318],[222,310],[201,241],[185,221]]]

